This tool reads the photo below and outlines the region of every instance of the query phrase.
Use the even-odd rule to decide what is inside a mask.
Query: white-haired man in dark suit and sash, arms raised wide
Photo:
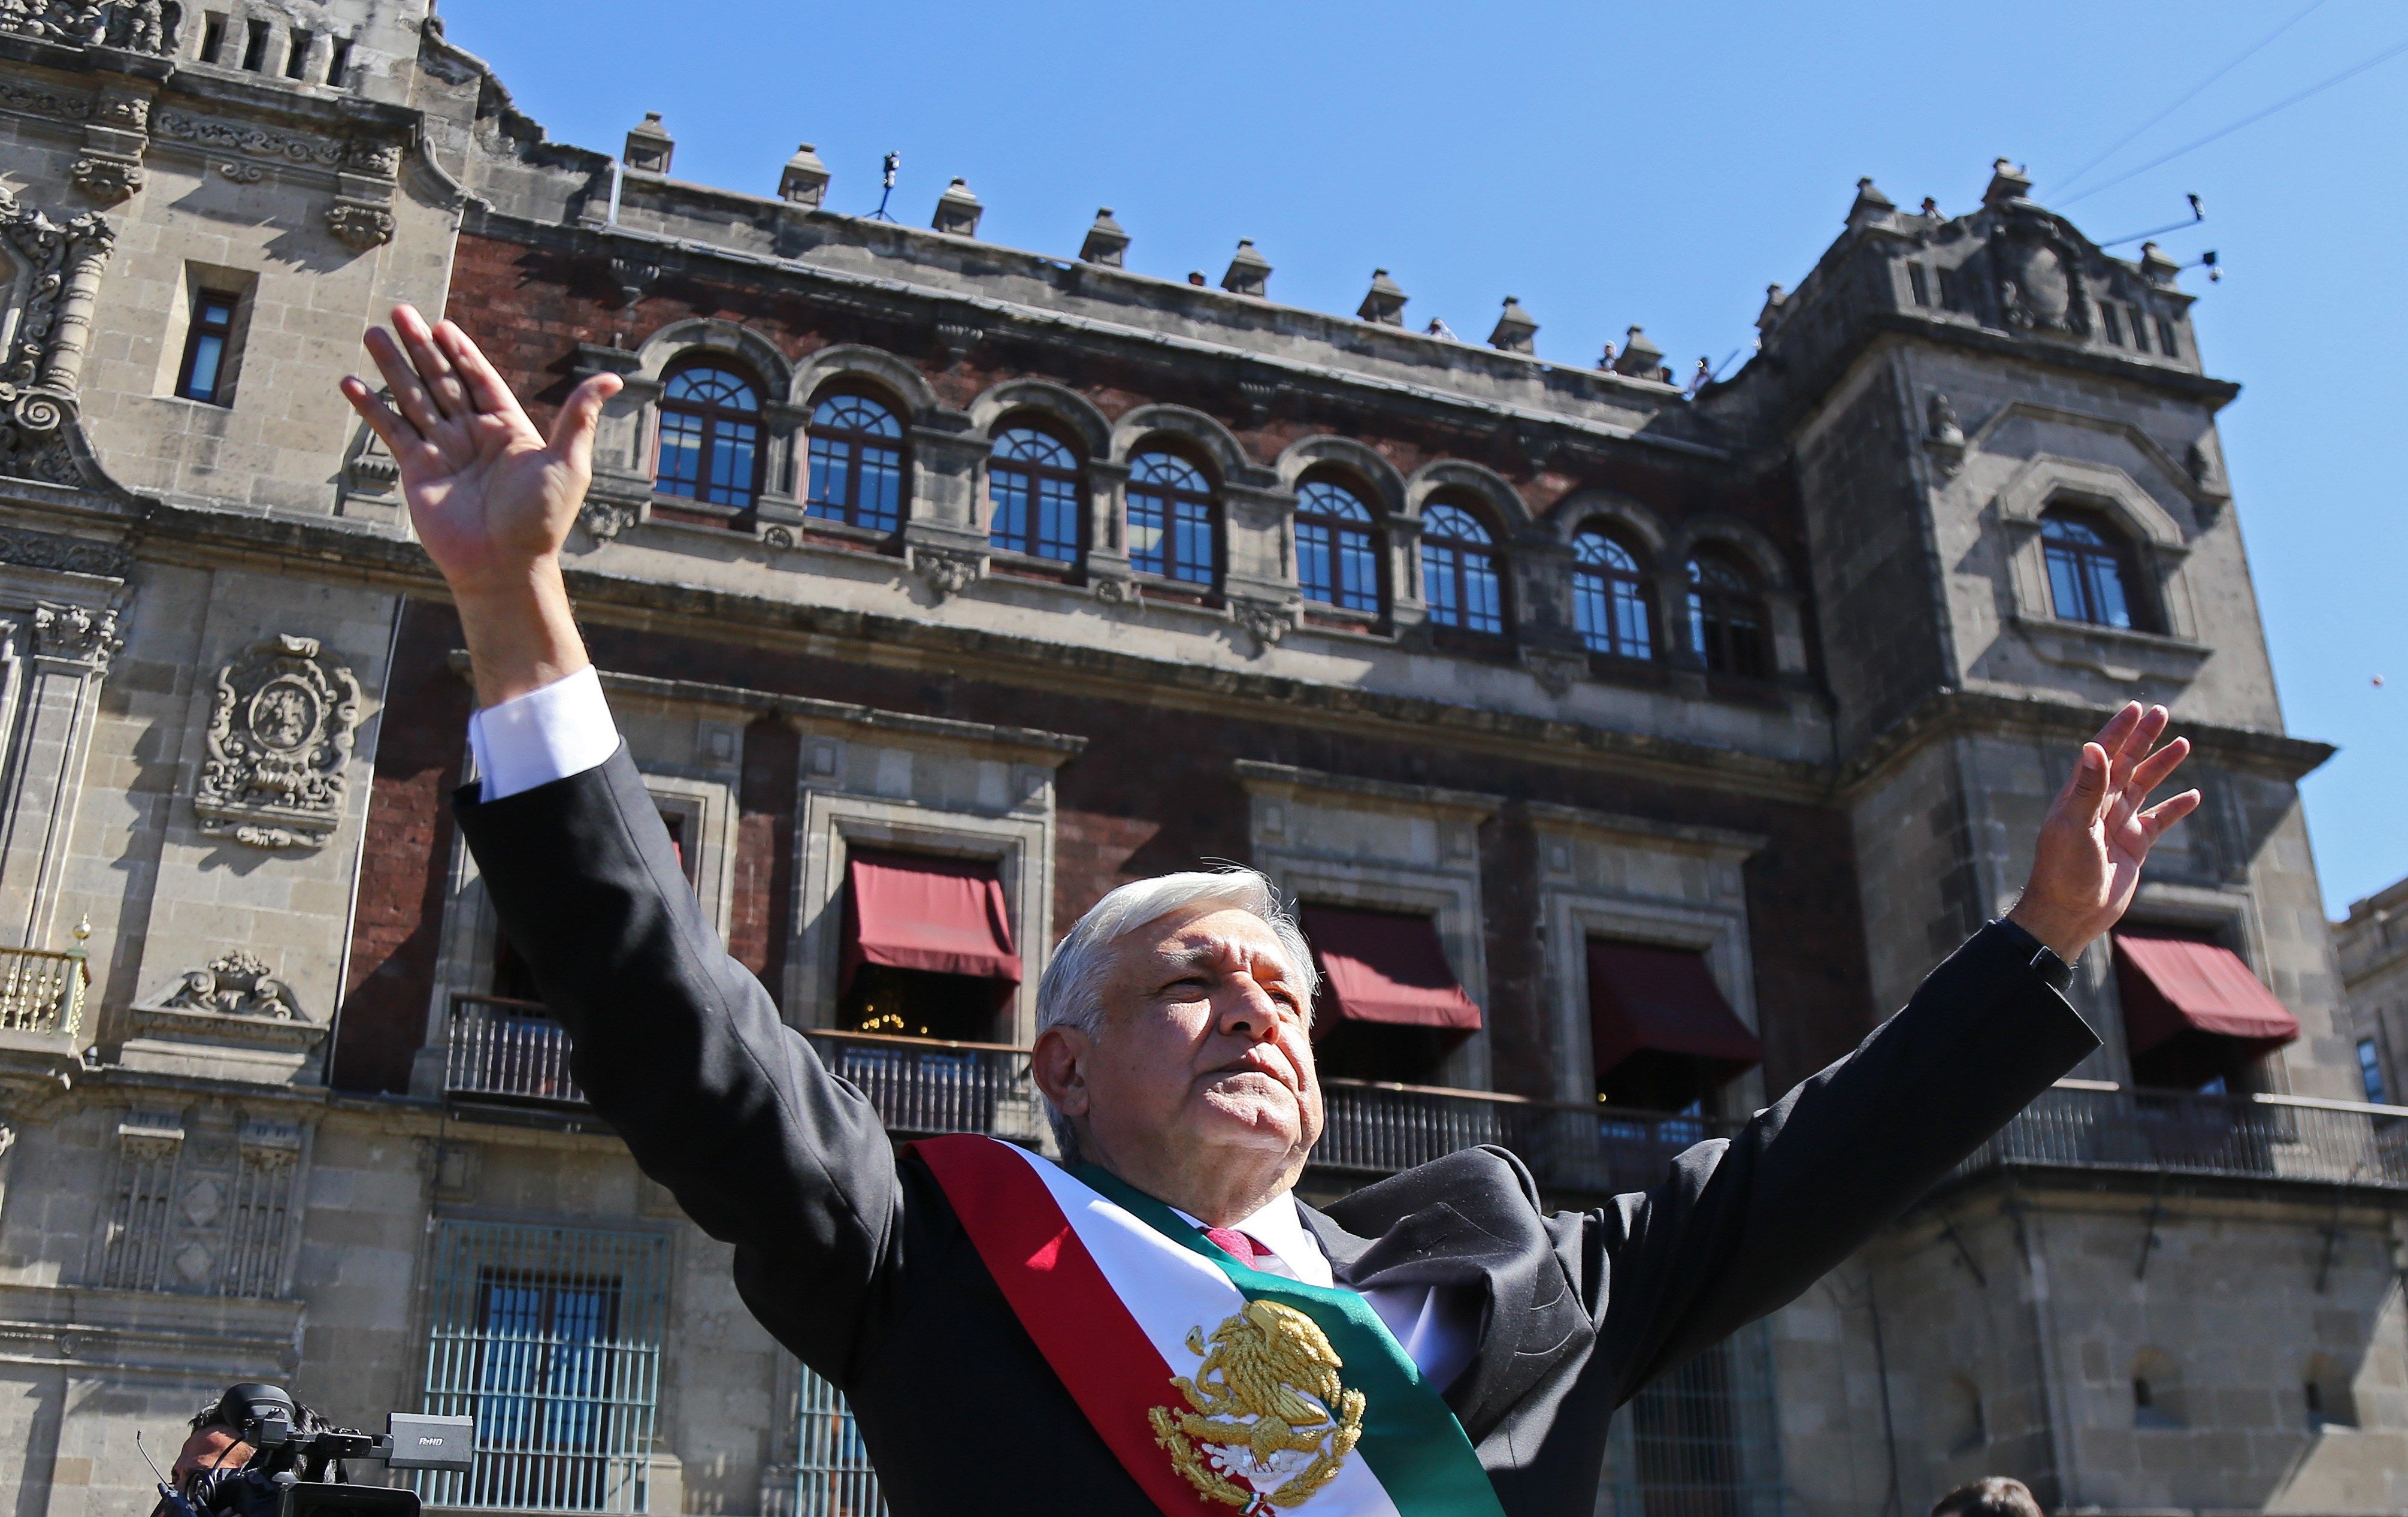
[[[585,657],[559,549],[614,376],[547,441],[450,323],[368,332],[344,395],[460,609],[479,785],[460,826],[578,1084],[713,1238],[754,1315],[852,1401],[901,1517],[1587,1512],[1606,1421],[1796,1298],[2095,1038],[2073,961],[2131,903],[2186,751],[2129,706],[2083,746],[2003,922],[1905,1011],[1649,1190],[1546,1214],[1503,1149],[1327,1211],[1315,970],[1245,869],[1122,886],[1038,985],[1064,1163],[889,1144],[734,963]]]

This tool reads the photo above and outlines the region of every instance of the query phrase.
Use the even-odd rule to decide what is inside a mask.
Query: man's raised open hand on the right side
[[[2155,746],[2167,720],[2162,706],[2143,710],[2138,701],[2114,713],[2083,744],[2073,778],[2040,824],[2032,879],[2006,920],[2066,963],[2124,917],[2141,889],[2148,850],[2199,809],[2196,790],[2148,804],[2148,792],[2172,778],[2191,751],[2186,737]]]

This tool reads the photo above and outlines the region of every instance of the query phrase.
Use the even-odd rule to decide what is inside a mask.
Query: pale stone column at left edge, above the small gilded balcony
[[[0,903],[26,949],[51,949],[60,876],[84,792],[84,754],[101,679],[116,655],[118,614],[67,604],[34,612],[34,657],[17,739],[17,792],[0,824]],[[5,929],[5,927],[0,927]]]

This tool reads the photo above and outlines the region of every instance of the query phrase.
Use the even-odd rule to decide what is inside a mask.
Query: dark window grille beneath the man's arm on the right
[[[1772,1334],[1755,1322],[1642,1389],[1613,1418],[1613,1517],[1782,1517]]]

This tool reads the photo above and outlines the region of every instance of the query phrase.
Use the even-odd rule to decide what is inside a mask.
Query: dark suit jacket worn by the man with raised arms
[[[727,958],[621,749],[460,826],[571,1067],[780,1344],[852,1401],[898,1517],[1141,1517],[929,1170]],[[1606,1418],[1796,1298],[2095,1047],[2054,956],[1991,925],[1852,1055],[1597,1211],[1469,1149],[1305,1211],[1339,1281],[1479,1291],[1447,1401],[1505,1512],[1589,1512]]]

